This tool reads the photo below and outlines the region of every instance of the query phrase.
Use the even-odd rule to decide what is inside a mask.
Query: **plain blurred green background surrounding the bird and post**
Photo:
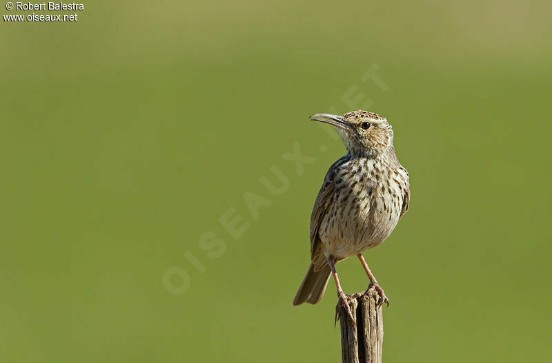
[[[307,117],[365,105],[411,176],[410,211],[365,253],[391,299],[385,362],[546,360],[551,11],[88,1],[75,23],[1,21],[0,360],[339,362],[333,284],[291,304],[344,154]],[[295,143],[316,159],[300,176],[282,158]],[[277,184],[272,165],[279,196],[259,181]],[[247,192],[270,203],[256,220]],[[366,287],[357,260],[337,270]]]

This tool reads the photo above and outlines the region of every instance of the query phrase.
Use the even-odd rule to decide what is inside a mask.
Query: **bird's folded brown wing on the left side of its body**
[[[313,208],[313,214],[311,214],[311,260],[315,260],[315,253],[317,247],[320,244],[320,238],[318,236],[318,229],[328,207],[333,199],[333,194],[335,193],[335,176],[337,175],[337,167],[344,163],[347,156],[340,158],[328,169],[326,173],[326,178],[324,178],[324,183],[318,192],[316,197],[315,207]]]

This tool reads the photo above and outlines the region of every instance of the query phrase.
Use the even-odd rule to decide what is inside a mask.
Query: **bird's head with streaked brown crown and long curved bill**
[[[310,118],[337,127],[345,146],[353,154],[376,156],[393,147],[393,129],[379,114],[359,110],[343,116],[313,114]]]

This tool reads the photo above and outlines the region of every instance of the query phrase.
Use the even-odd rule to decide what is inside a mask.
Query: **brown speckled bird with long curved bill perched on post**
[[[362,252],[384,242],[408,211],[410,180],[395,155],[393,128],[383,116],[358,110],[309,118],[336,127],[347,153],[328,169],[318,192],[311,214],[311,265],[293,305],[317,304],[333,276],[337,307],[341,304],[355,322],[348,305],[352,295],[339,284],[335,264],[357,256],[370,280],[364,293],[373,289],[379,296],[377,307],[389,305]]]

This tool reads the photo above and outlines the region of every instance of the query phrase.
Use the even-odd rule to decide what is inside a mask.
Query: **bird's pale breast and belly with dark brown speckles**
[[[326,264],[330,255],[343,260],[380,245],[404,213],[408,189],[406,169],[396,158],[386,156],[365,158],[347,154],[327,175],[327,183],[333,185],[326,187],[333,191],[325,213],[319,217],[321,220],[315,221],[319,223],[322,242],[313,251],[315,270]]]

